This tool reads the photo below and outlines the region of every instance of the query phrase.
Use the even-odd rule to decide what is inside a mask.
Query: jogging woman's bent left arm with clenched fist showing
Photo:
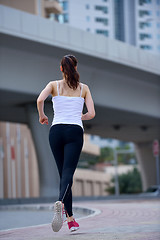
[[[49,82],[37,98],[37,109],[39,113],[39,122],[41,124],[46,123],[48,125],[48,117],[44,114],[43,107],[44,107],[45,99],[52,93],[52,91],[53,91],[53,85],[51,82]]]

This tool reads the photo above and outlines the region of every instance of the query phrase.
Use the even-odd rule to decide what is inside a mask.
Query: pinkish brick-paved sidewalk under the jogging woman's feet
[[[113,200],[76,202],[74,206],[96,209],[79,219],[80,229],[69,232],[67,224],[55,233],[51,224],[0,231],[4,240],[160,240],[160,201]]]

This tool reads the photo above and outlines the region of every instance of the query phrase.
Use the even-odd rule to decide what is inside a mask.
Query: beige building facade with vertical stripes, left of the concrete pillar
[[[0,198],[39,196],[38,161],[30,129],[0,122]]]

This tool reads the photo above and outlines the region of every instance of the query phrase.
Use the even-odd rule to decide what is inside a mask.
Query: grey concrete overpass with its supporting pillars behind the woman
[[[59,180],[49,148],[50,126],[39,124],[36,99],[49,81],[62,78],[60,61],[69,53],[78,58],[80,81],[90,87],[95,103],[96,117],[83,122],[85,132],[134,142],[143,188],[155,184],[152,141],[160,139],[160,57],[0,5],[0,121],[30,127],[41,196],[56,195]],[[45,112],[51,124],[51,97]]]

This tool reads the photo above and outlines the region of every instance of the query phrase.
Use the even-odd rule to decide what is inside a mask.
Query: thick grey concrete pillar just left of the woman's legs
[[[46,108],[45,108],[46,109]],[[38,159],[39,176],[40,176],[40,196],[56,197],[59,193],[59,175],[57,166],[52,155],[49,145],[49,130],[52,118],[50,117],[49,125],[41,125],[36,104],[26,106],[28,117],[28,126],[31,129],[33,141]],[[52,111],[50,111],[52,112]],[[48,114],[45,112],[48,116]],[[49,117],[49,116],[48,116]]]

